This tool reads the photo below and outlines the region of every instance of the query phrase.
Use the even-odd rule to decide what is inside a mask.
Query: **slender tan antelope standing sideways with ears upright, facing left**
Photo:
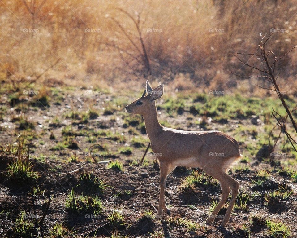
[[[232,190],[232,197],[222,220],[221,226],[229,222],[239,183],[226,174],[228,167],[241,157],[238,142],[229,135],[217,131],[185,131],[161,126],[157,117],[155,100],[163,95],[164,85],[160,84],[152,90],[146,81],[143,95],[125,107],[127,112],[140,114],[145,122],[146,132],[151,141],[151,148],[157,155],[160,165],[160,199],[157,216],[162,210],[170,215],[166,207],[164,193],[167,175],[175,166],[202,168],[206,174],[217,179],[222,188],[222,199],[213,210],[206,224],[217,216],[217,213],[227,201]]]

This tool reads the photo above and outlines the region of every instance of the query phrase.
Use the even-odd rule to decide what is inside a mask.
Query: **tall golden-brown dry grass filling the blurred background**
[[[36,2],[38,8],[42,1]],[[177,82],[176,88],[204,85],[219,90],[221,85],[225,90],[224,87],[236,86],[231,70],[243,73],[242,65],[232,55],[256,51],[260,32],[263,35],[272,28],[278,29],[270,43],[276,55],[296,44],[296,2],[204,0],[161,4],[157,0],[52,0],[45,2],[33,20],[22,1],[1,1],[0,33],[1,42],[5,43],[0,46],[0,77],[34,78],[61,58],[42,75],[44,83],[107,82],[115,87],[123,80],[139,81],[143,68],[125,53],[137,56],[137,51],[113,19],[137,47],[140,42],[134,36],[137,31],[132,20],[117,9],[120,7],[133,17],[140,14],[140,30],[155,77],[161,76],[163,82],[179,81],[183,76],[175,74],[183,73],[192,82]],[[111,42],[125,50],[121,55],[131,68],[119,57],[118,50],[106,45]],[[297,73],[296,58],[297,51],[283,58],[282,78]],[[250,60],[249,55],[245,60]]]

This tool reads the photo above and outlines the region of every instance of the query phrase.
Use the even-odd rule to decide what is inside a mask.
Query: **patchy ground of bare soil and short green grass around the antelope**
[[[54,224],[61,223],[75,231],[75,236],[78,237],[93,237],[92,231],[96,229],[95,237],[111,237],[114,227],[108,223],[107,217],[112,212],[119,211],[124,216],[125,225],[118,227],[118,230],[128,237],[270,237],[267,226],[252,221],[253,215],[280,222],[289,228],[290,237],[297,237],[295,221],[297,183],[291,178],[291,174],[282,171],[282,167],[286,166],[292,168],[294,173],[295,155],[288,151],[286,158],[280,156],[278,160],[273,161],[273,164],[269,159],[256,158],[256,153],[263,143],[266,143],[262,140],[264,137],[267,140],[268,126],[274,125],[273,118],[265,122],[265,110],[270,106],[261,100],[258,100],[259,107],[266,105],[265,110],[250,108],[255,101],[245,108],[249,114],[258,114],[259,111],[262,123],[258,125],[253,125],[248,115],[244,117],[244,111],[243,114],[228,116],[227,119],[225,113],[222,115],[223,120],[220,120],[221,117],[211,120],[211,117],[215,118],[211,108],[205,108],[205,111],[203,109],[193,115],[189,110],[193,101],[187,96],[186,109],[182,113],[179,112],[180,108],[176,107],[179,98],[172,102],[167,102],[168,99],[158,102],[158,105],[170,103],[165,105],[169,107],[168,110],[166,107],[158,108],[162,125],[183,130],[222,130],[239,140],[245,160],[238,161],[231,168],[230,174],[240,183],[239,195],[245,194],[248,196],[248,201],[244,207],[240,207],[242,196],[237,198],[237,207],[232,212],[230,223],[226,229],[221,229],[218,226],[223,211],[210,225],[204,225],[210,214],[211,201],[218,201],[221,196],[220,187],[198,184],[190,191],[183,191],[181,189],[183,179],[191,174],[192,170],[181,167],[175,169],[167,179],[166,203],[170,207],[171,217],[163,214],[161,221],[154,217],[140,219],[146,210],[156,214],[155,208],[159,199],[159,166],[153,163],[153,156],[149,154],[146,156],[144,166],[134,163],[142,157],[148,138],[141,118],[128,115],[123,111],[123,106],[135,99],[138,94],[131,95],[130,92],[123,92],[121,95],[103,92],[97,94],[97,91],[84,88],[80,90],[51,88],[44,94],[47,96],[47,101],[46,104],[42,101],[41,105],[36,103],[34,97],[21,95],[15,99],[6,91],[0,97],[0,145],[5,147],[6,142],[15,145],[18,134],[25,135],[25,144],[31,148],[30,160],[34,164],[33,170],[41,175],[34,184],[35,187],[45,190],[34,201],[39,219],[45,210],[48,198],[52,198],[43,222],[44,234],[47,234]],[[233,100],[239,107],[245,105],[237,98]],[[231,107],[226,103],[222,105],[218,105],[223,107],[220,110],[228,110]],[[85,114],[90,109],[97,112],[97,115],[92,117],[89,115],[89,118],[84,120]],[[176,112],[173,113],[174,110]],[[69,141],[72,143],[67,144]],[[96,150],[93,150],[94,148]],[[120,148],[130,148],[131,153],[123,152]],[[92,150],[95,156],[89,156]],[[1,154],[0,237],[11,236],[11,227],[14,226],[22,210],[30,216],[34,215],[30,196],[33,185],[29,187],[27,184],[13,183],[6,176],[7,166],[11,160],[11,156]],[[114,160],[123,162],[123,171],[106,168],[106,161]],[[93,170],[94,174],[107,185],[100,197],[104,206],[100,218],[91,219],[85,218],[84,215],[72,214],[65,207],[72,188],[77,194],[80,193],[80,187],[77,186],[79,183],[77,169],[80,168],[86,171]],[[267,178],[263,178],[265,182],[257,186],[253,181],[261,179],[256,175],[263,171],[267,172]],[[267,204],[265,193],[277,191],[280,187],[283,188],[282,192],[291,191],[290,196],[286,199],[271,200]],[[196,232],[188,231],[187,225],[180,223],[177,218],[198,224],[200,228],[196,229]],[[31,217],[28,218],[30,219],[32,220]]]

